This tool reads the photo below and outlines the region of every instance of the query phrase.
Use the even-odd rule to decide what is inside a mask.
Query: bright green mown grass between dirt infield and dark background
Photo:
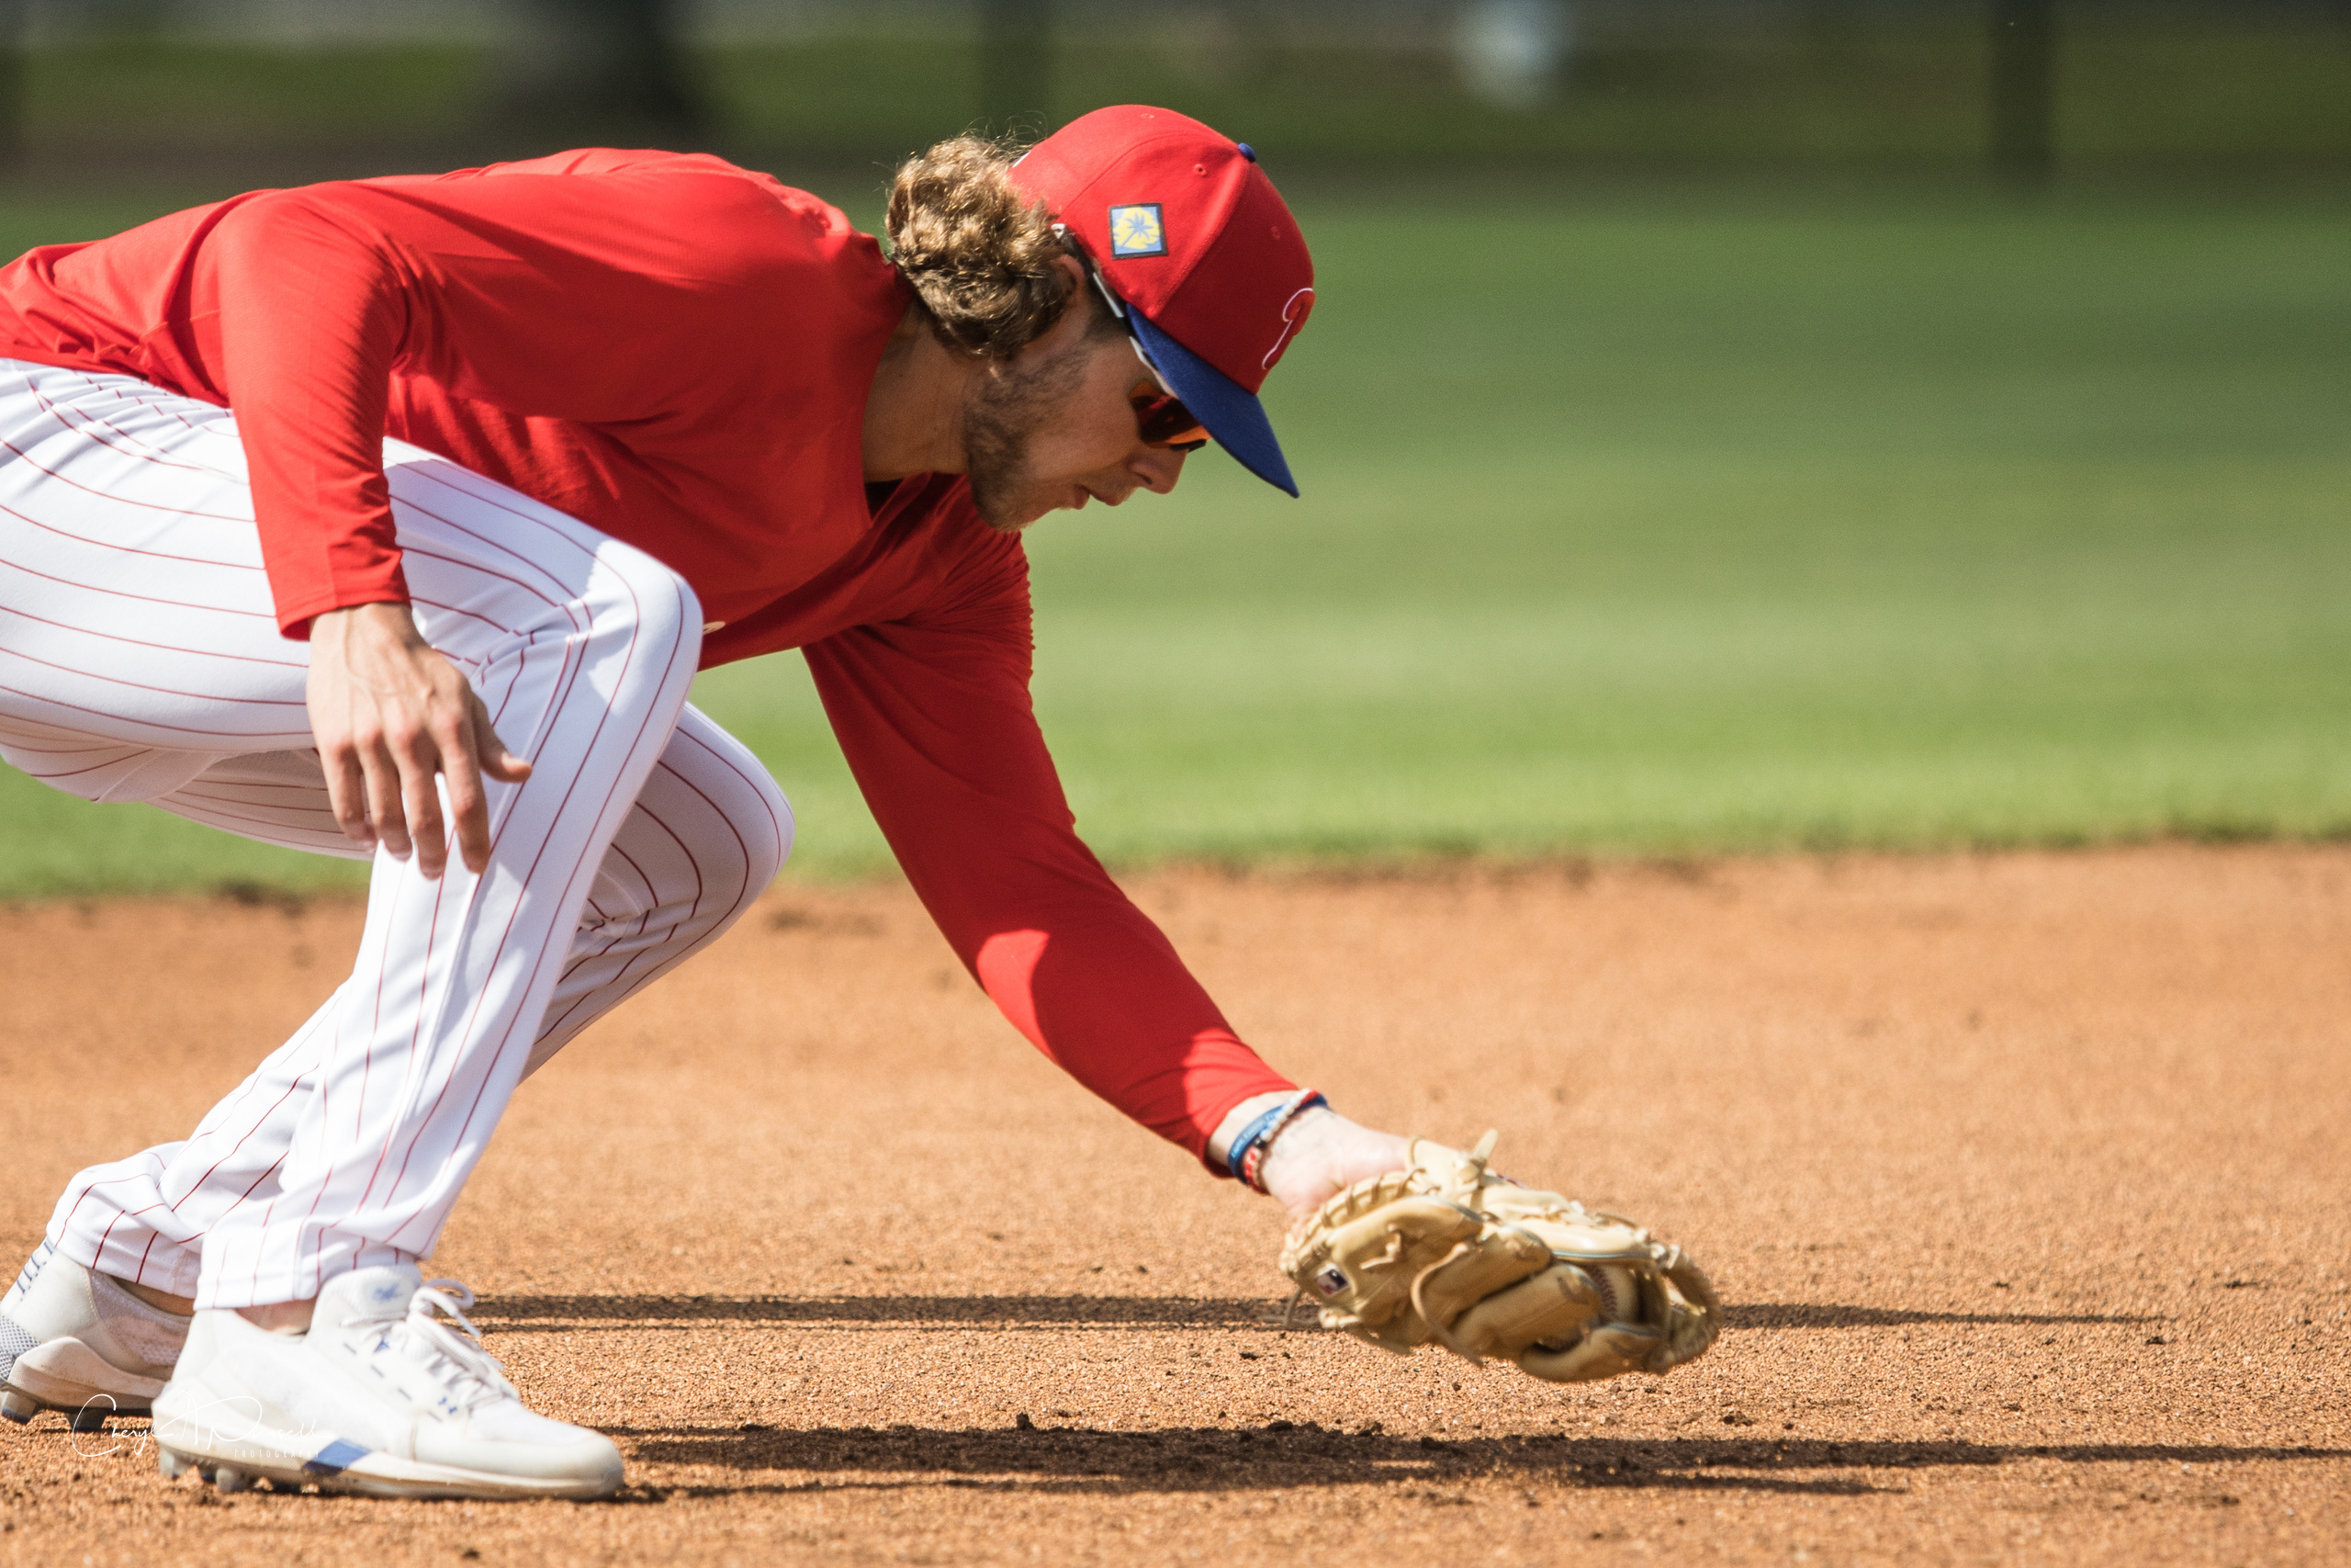
[[[1201,454],[1032,536],[1112,860],[2351,827],[2351,209],[1298,205],[1305,501]],[[797,656],[696,701],[799,875],[884,863]],[[5,891],[320,872],[0,776]]]

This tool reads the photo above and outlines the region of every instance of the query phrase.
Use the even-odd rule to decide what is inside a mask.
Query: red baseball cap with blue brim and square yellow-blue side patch
[[[1013,183],[1077,235],[1215,444],[1295,496],[1258,388],[1314,308],[1314,259],[1258,155],[1176,110],[1121,103],[1039,141]]]

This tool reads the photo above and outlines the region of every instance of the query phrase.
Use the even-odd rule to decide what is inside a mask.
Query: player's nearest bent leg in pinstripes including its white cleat
[[[670,745],[701,609],[651,557],[475,475],[414,458],[390,477],[418,623],[534,769],[487,790],[480,877],[428,882],[379,853],[275,1194],[205,1232],[155,1441],[165,1469],[223,1488],[609,1495],[611,1441],[524,1408],[463,1319],[470,1293],[423,1286],[414,1260],[522,1077],[597,870]],[[308,1298],[301,1338],[237,1312]]]

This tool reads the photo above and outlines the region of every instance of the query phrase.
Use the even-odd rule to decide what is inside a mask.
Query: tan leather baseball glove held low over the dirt
[[[1465,1154],[1413,1138],[1408,1168],[1291,1229],[1281,1272],[1324,1328],[1396,1354],[1500,1356],[1549,1382],[1665,1373],[1714,1345],[1721,1302],[1679,1246],[1495,1175],[1493,1143]]]

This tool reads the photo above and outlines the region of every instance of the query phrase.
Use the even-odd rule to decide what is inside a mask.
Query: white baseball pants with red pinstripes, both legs
[[[426,639],[531,759],[491,865],[379,853],[353,973],[186,1143],[73,1178],[68,1258],[202,1307],[433,1251],[515,1084],[715,940],[792,839],[684,705],[694,590],[649,555],[386,442]],[[364,856],[334,825],[228,411],[0,360],[0,757],[96,802]]]

